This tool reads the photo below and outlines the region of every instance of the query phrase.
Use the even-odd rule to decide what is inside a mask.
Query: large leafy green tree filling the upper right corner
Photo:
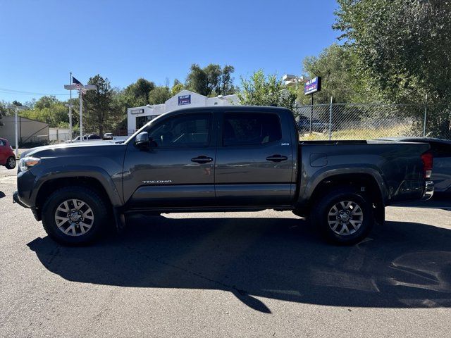
[[[435,129],[450,133],[451,1],[338,0],[357,69],[384,101],[423,103]]]

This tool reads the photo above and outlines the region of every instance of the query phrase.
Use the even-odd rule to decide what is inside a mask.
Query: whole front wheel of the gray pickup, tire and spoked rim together
[[[106,204],[87,187],[58,189],[42,207],[44,230],[60,244],[89,244],[99,237],[107,222]]]

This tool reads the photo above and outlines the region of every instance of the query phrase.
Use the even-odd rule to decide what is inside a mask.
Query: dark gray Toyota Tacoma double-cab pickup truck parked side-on
[[[87,244],[125,214],[292,211],[326,239],[361,241],[384,208],[431,196],[428,144],[299,142],[292,112],[276,107],[187,108],[123,143],[30,149],[13,200],[49,237]]]

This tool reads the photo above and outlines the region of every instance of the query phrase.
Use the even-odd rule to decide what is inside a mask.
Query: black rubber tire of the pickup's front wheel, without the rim
[[[92,224],[89,230],[85,230],[85,233],[78,235],[65,234],[60,227],[56,225],[56,209],[61,206],[65,201],[76,199],[82,202],[92,209]],[[73,207],[73,204],[68,204],[69,208]],[[75,210],[75,208],[73,208]],[[82,212],[83,209],[80,209]],[[86,216],[87,217],[87,216]],[[85,220],[87,223],[90,220]],[[65,223],[61,228],[71,226],[72,224],[77,227],[78,232],[80,232],[80,225],[75,225],[75,223]],[[44,225],[44,230],[47,232],[51,239],[55,242],[63,245],[70,246],[82,246],[87,245],[94,240],[96,240],[99,235],[106,228],[109,222],[108,208],[105,201],[102,199],[100,194],[94,190],[87,187],[70,186],[64,187],[51,193],[44,206],[42,206],[42,225]],[[75,232],[70,230],[70,232]]]

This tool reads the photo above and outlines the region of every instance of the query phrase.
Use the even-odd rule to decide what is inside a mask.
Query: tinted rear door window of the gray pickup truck
[[[280,118],[273,113],[226,113],[224,146],[266,144],[282,139]]]

